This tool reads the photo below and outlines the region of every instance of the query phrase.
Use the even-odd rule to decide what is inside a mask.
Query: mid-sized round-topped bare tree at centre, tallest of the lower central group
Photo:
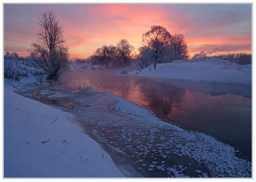
[[[117,43],[117,51],[123,59],[123,64],[129,65],[130,59],[132,58],[132,52],[135,49],[133,46],[129,45],[128,40],[122,39]]]

